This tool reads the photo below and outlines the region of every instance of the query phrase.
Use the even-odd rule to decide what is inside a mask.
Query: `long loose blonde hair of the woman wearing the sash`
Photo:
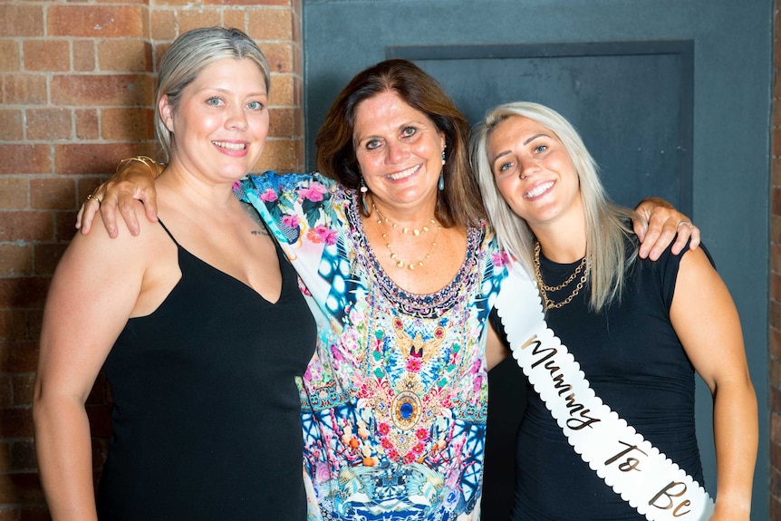
[[[586,259],[591,264],[590,304],[597,312],[620,300],[624,274],[637,257],[637,247],[627,256],[633,237],[629,219],[633,210],[614,204],[605,192],[599,178],[596,162],[583,144],[572,123],[558,112],[528,101],[499,105],[488,111],[486,120],[472,134],[470,146],[472,169],[483,195],[488,217],[497,232],[499,246],[515,256],[533,273],[535,236],[525,220],[507,205],[497,188],[487,155],[487,142],[497,125],[514,116],[521,116],[553,131],[572,159],[583,199],[586,228]]]

